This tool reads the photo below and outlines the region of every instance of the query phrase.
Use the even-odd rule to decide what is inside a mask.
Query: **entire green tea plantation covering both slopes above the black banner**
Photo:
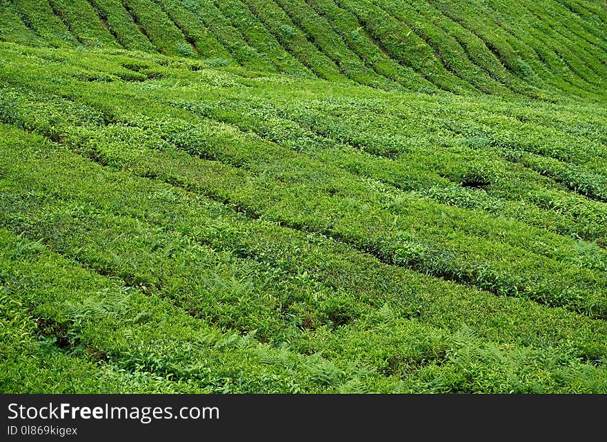
[[[0,0],[0,366],[607,393],[607,3]]]

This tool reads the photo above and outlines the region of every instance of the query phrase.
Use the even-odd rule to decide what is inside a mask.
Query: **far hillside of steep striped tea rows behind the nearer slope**
[[[0,39],[437,90],[590,98],[606,85],[602,1],[3,0]]]

